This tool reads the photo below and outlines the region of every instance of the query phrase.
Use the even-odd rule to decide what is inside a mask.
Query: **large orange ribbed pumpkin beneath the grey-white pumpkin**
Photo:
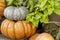
[[[21,39],[30,37],[36,32],[36,28],[31,23],[25,21],[11,21],[5,19],[1,24],[1,32],[11,39]]]

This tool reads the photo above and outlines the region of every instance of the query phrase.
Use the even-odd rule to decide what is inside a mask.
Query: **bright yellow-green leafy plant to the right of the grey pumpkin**
[[[60,15],[59,0],[28,0],[27,4],[30,13],[26,16],[26,21],[32,22],[36,27],[39,22],[49,23],[49,15]]]

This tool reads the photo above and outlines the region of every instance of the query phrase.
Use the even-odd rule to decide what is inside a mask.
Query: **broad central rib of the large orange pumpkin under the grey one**
[[[17,39],[24,37],[24,29],[21,21],[15,23],[15,34]]]

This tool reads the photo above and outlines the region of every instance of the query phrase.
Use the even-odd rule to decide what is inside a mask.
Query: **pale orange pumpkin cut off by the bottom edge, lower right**
[[[48,33],[35,34],[29,40],[54,40],[54,38]]]

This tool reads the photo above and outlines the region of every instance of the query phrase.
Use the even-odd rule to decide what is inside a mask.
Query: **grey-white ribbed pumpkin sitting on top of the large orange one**
[[[10,20],[23,20],[28,14],[28,10],[26,7],[14,7],[9,6],[4,10],[4,16]]]

